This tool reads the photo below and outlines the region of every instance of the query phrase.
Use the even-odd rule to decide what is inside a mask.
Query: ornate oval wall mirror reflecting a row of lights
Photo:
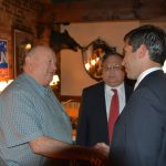
[[[102,58],[106,51],[115,51],[116,48],[110,46],[104,40],[96,39],[87,46],[82,49],[82,59],[85,71],[96,80],[102,80]]]

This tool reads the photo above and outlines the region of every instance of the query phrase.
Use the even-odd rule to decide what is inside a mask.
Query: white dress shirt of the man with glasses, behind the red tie
[[[123,108],[124,108],[124,106],[126,104],[124,83],[122,83],[121,85],[118,85],[116,87],[111,87],[111,86],[105,84],[105,104],[106,104],[107,120],[108,120],[108,115],[110,115],[111,98],[112,98],[112,96],[114,94],[112,89],[116,89],[117,90],[118,103],[120,103],[120,114],[122,113],[122,111],[123,111]]]

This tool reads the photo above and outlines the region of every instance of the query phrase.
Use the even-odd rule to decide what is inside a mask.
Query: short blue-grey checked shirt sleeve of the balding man
[[[1,120],[4,122],[2,124],[6,124],[3,132],[7,146],[17,146],[42,136],[43,133],[39,123],[40,115],[37,115],[32,102],[35,98],[32,100],[29,93],[18,89],[4,96],[2,102],[8,111]]]

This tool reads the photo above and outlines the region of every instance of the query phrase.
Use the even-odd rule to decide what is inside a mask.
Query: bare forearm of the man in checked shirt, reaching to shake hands
[[[66,144],[49,137],[39,137],[30,142],[32,151],[49,158],[84,159],[103,158],[102,154],[94,148]]]

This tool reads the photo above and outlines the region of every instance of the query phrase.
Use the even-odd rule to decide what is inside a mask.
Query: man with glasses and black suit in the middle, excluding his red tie
[[[120,113],[133,91],[133,86],[124,81],[122,61],[120,53],[106,52],[102,60],[103,81],[83,90],[76,144],[93,146],[102,142],[110,145],[107,124],[113,96],[111,89],[117,90]]]

